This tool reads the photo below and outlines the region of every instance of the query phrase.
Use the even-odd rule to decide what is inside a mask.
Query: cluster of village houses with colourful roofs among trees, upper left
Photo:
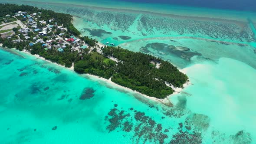
[[[78,51],[80,48],[87,48],[87,45],[78,37],[72,36],[63,24],[56,23],[54,19],[43,20],[41,14],[22,11],[15,13],[25,27],[18,29],[17,39],[12,42],[27,41],[30,42],[29,46],[41,43],[43,49],[56,49],[59,52],[63,52],[67,47]]]

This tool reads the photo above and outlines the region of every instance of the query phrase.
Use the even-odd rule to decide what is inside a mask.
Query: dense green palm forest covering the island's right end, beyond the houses
[[[173,93],[173,89],[168,87],[165,82],[171,83],[176,87],[182,87],[187,82],[187,75],[154,56],[146,55],[141,52],[131,52],[127,49],[108,46],[102,49],[104,57],[95,54],[87,54],[85,60],[75,64],[75,71],[79,73],[89,73],[109,79],[112,82],[122,85],[142,94],[166,98]],[[108,59],[112,56],[119,60],[116,62]],[[160,68],[156,68],[156,63],[161,63]]]

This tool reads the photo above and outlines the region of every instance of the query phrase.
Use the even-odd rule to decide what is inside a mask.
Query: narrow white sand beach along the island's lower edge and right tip
[[[101,44],[101,43],[100,43],[100,44]],[[1,46],[1,45],[0,45],[0,46]],[[5,49],[5,48],[4,48],[4,49]],[[14,51],[18,51],[18,50],[15,49],[15,48],[13,48],[13,50],[14,50]],[[74,63],[72,64],[72,67],[67,68],[67,67],[65,67],[65,66],[63,66],[63,65],[59,65],[59,64],[57,64],[57,63],[55,63],[55,62],[51,62],[51,61],[49,61],[49,60],[47,60],[47,59],[45,59],[45,58],[43,58],[43,57],[41,57],[41,56],[39,56],[39,55],[32,55],[30,52],[26,51],[25,49],[23,49],[23,51],[19,51],[19,52],[23,52],[23,53],[28,54],[28,55],[30,55],[30,56],[34,56],[36,59],[41,59],[41,60],[43,60],[43,61],[52,63],[52,64],[54,64],[54,65],[61,66],[62,68],[69,69],[69,70],[71,70],[72,72],[75,72],[75,71],[74,71]],[[184,69],[179,69],[179,70],[180,70],[182,73],[186,74],[186,73],[185,73],[186,70],[184,70]],[[79,75],[79,74],[78,74],[78,75]],[[173,94],[167,95],[167,97],[164,98],[164,99],[159,99],[159,98],[150,97],[150,96],[148,96],[148,95],[144,95],[144,94],[142,94],[142,93],[140,93],[140,92],[137,92],[137,91],[135,91],[135,90],[132,90],[131,88],[127,88],[127,87],[118,85],[118,84],[116,84],[115,82],[112,82],[112,81],[111,81],[111,78],[110,78],[110,79],[104,79],[104,78],[99,77],[99,76],[97,76],[97,75],[91,75],[91,74],[82,74],[81,76],[83,76],[83,77],[85,77],[85,78],[87,78],[87,79],[94,80],[94,81],[103,82],[103,83],[101,83],[101,84],[104,84],[104,85],[107,86],[108,88],[114,88],[114,89],[116,89],[116,90],[118,90],[118,91],[120,91],[120,92],[124,90],[125,92],[129,92],[130,94],[138,94],[138,95],[142,96],[143,98],[147,98],[147,99],[149,99],[149,100],[151,100],[151,101],[160,102],[161,104],[166,105],[166,106],[169,106],[169,107],[172,107],[172,106],[173,106],[173,104],[171,103],[171,101],[169,100],[169,98],[170,98],[171,96],[173,96],[173,95],[176,95],[176,94],[180,93],[184,88],[186,88],[187,86],[189,86],[189,85],[191,84],[191,83],[188,81],[188,82],[186,82],[186,83],[183,85],[184,88],[173,88],[173,90],[174,90],[174,93],[173,93]],[[133,96],[134,96],[134,95],[133,95]]]

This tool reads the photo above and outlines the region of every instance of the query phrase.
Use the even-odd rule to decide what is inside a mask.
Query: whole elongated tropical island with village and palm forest
[[[80,32],[72,16],[16,4],[0,4],[0,43],[39,55],[75,72],[96,75],[144,95],[166,98],[188,77],[160,58],[105,46]]]

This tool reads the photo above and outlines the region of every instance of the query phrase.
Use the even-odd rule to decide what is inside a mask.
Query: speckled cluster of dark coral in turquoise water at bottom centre
[[[133,108],[129,108],[129,110],[133,110]],[[163,144],[168,136],[162,132],[162,125],[146,116],[144,112],[134,112],[134,116],[131,116],[126,111],[120,111],[117,108],[111,109],[111,111],[108,112],[108,116],[105,117],[105,121],[109,122],[107,126],[108,131],[111,132],[118,128],[125,132],[134,131],[134,137],[132,137],[132,139],[134,139],[133,141],[135,141],[135,143],[143,141],[143,143]],[[136,122],[130,122],[128,119]]]

